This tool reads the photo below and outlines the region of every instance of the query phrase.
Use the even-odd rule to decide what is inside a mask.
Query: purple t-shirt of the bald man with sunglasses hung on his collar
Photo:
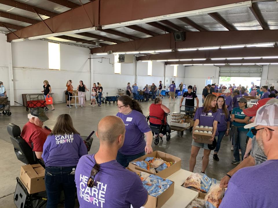
[[[75,171],[75,184],[80,208],[139,208],[145,204],[148,192],[140,177],[125,169],[116,160],[99,164],[94,187],[87,187],[94,155],[80,158]]]

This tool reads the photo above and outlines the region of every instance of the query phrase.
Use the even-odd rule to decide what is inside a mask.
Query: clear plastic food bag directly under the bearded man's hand
[[[205,196],[206,208],[218,208],[224,196],[225,189],[220,185],[212,185]]]

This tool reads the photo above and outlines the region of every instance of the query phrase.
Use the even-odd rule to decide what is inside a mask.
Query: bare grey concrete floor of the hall
[[[199,97],[199,96],[198,96]],[[169,103],[169,99],[164,98],[163,104],[170,108],[171,112],[179,111],[179,103],[180,98],[177,99],[176,103]],[[199,100],[202,100],[199,97]],[[149,102],[140,102],[143,113],[147,116],[149,105],[151,105],[151,101]],[[47,111],[46,114],[49,117],[44,125],[49,128],[52,128],[56,122],[56,118],[60,114],[70,114],[74,121],[74,126],[81,133],[81,135],[87,136],[93,130],[96,131],[97,124],[99,120],[108,115],[116,115],[118,109],[115,104],[103,104],[102,107],[92,107],[88,106],[90,104],[87,101],[87,107],[81,109],[72,108],[69,109],[65,106],[65,103],[55,104],[54,111]],[[201,104],[200,104],[201,106]],[[7,132],[7,125],[9,123],[14,123],[19,125],[22,129],[24,124],[28,121],[27,114],[29,112],[25,111],[25,107],[11,107],[11,116],[0,115],[0,146],[1,146],[1,155],[0,157],[0,207],[15,207],[13,202],[13,194],[16,187],[16,177],[19,176],[20,166],[23,165],[19,160],[17,160],[16,155],[14,154],[13,146],[10,141],[10,137]],[[171,116],[168,116],[170,123]],[[99,147],[98,138],[96,135],[93,135],[94,141],[92,144],[90,154],[96,153]],[[166,138],[163,138],[163,142],[160,142],[158,145],[152,145],[153,151],[159,150],[171,155],[175,155],[182,159],[182,168],[185,170],[189,170],[189,157],[191,152],[191,141],[192,134],[189,131],[184,131],[184,135],[180,137],[177,132],[171,133],[171,140],[169,142],[166,141]],[[213,160],[213,153],[210,155],[210,161],[208,168],[206,169],[206,174],[209,177],[221,179],[229,170],[235,167],[235,165],[231,164],[233,160],[233,152],[231,151],[231,142],[229,142],[228,137],[224,137],[222,140],[222,146],[220,148],[220,152],[218,153],[220,161]],[[200,172],[202,167],[202,149],[197,156],[197,163],[194,169],[194,172]]]

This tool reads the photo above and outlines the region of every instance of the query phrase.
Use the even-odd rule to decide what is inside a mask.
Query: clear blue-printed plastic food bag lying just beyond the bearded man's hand
[[[194,187],[202,192],[208,192],[211,187],[211,179],[204,173],[193,173],[184,181],[183,186]]]

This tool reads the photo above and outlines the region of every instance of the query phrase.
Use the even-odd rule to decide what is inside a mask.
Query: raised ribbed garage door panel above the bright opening
[[[219,77],[261,77],[261,67],[220,67]]]

